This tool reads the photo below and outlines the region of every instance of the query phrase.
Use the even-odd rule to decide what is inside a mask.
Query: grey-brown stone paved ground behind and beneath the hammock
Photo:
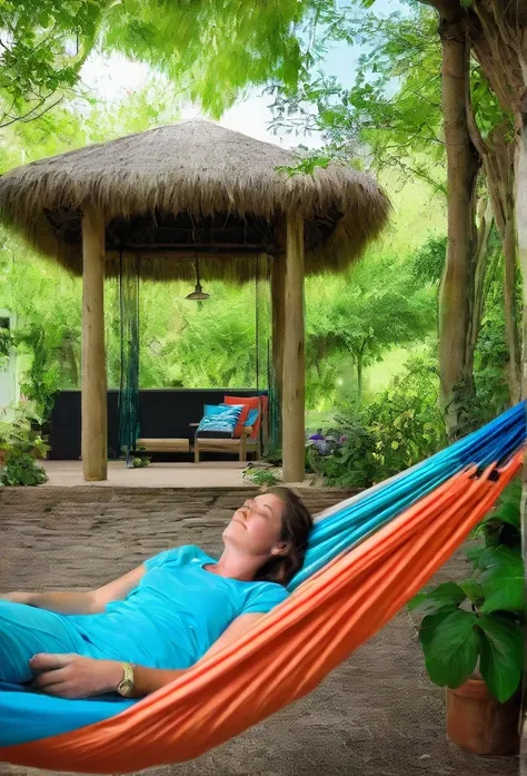
[[[6,489],[0,590],[92,587],[172,543],[221,547],[249,490]],[[306,489],[314,511],[344,492]],[[454,558],[440,579],[463,573]],[[0,764],[2,776],[44,772]],[[444,692],[428,680],[414,623],[400,612],[309,697],[236,740],[150,776],[511,776],[515,758],[448,744]]]

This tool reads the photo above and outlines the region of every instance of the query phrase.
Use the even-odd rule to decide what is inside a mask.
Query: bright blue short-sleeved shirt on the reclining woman
[[[288,597],[275,582],[242,582],[207,571],[199,547],[167,550],[122,601],[100,615],[68,617],[97,651],[149,668],[188,668],[240,615],[268,612]]]

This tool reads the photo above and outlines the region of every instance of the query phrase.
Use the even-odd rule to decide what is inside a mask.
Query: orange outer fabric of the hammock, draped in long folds
[[[0,748],[0,759],[101,774],[188,760],[312,690],[417,593],[521,466],[476,466],[304,582],[242,639],[110,719]]]

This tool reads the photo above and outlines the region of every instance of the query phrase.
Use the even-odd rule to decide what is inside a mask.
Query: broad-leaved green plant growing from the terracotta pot
[[[501,703],[516,692],[523,671],[520,498],[521,485],[513,482],[474,532],[481,543],[467,553],[473,563],[468,579],[439,585],[409,605],[422,616],[419,640],[430,679],[459,687],[478,666]]]

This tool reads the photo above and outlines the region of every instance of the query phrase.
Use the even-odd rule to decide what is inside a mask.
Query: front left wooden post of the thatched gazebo
[[[105,219],[87,205],[82,213],[82,472],[108,475],[108,400],[105,354]]]

